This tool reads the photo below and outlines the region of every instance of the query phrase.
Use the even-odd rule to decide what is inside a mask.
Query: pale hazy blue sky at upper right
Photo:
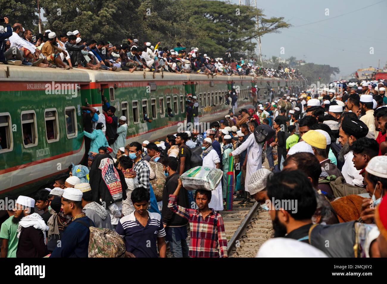
[[[257,7],[263,9],[266,17],[284,17],[293,26],[261,37],[262,55],[266,56],[263,59],[295,56],[298,60],[328,64],[340,68],[337,79],[358,68],[378,67],[379,60],[383,67],[387,61],[387,0],[381,1],[257,0]],[[239,0],[230,2],[238,4]],[[245,5],[245,0],[241,2]],[[254,0],[250,0],[250,5],[255,5]],[[329,15],[325,15],[326,9]],[[321,20],[324,21],[311,24]],[[298,27],[301,25],[305,26]],[[280,54],[282,47],[284,54]],[[258,54],[258,44],[256,51]]]

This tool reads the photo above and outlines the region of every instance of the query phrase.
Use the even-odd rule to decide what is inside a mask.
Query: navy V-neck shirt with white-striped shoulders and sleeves
[[[118,221],[116,232],[124,239],[125,249],[135,257],[159,257],[157,238],[166,235],[161,215],[148,212],[148,222],[145,227],[134,216],[135,211]]]

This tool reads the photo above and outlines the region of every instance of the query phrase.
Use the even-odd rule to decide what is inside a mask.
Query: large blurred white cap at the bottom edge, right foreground
[[[294,146],[293,146],[294,147]],[[293,148],[292,147],[292,148]],[[290,238],[272,238],[265,241],[256,257],[328,257],[318,248]]]

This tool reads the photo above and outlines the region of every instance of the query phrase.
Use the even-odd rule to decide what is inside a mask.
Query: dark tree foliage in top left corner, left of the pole
[[[0,16],[8,17],[12,26],[23,25],[24,29],[34,29],[38,24],[38,6],[34,0],[0,0]]]

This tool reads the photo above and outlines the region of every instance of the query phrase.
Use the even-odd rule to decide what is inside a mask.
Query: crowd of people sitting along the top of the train
[[[207,75],[250,75],[286,79],[303,78],[298,69],[261,68],[256,60],[231,59],[230,51],[224,58],[214,58],[199,50],[176,43],[174,48],[141,43],[128,36],[125,43],[82,39],[82,31],[63,34],[47,29],[44,34],[33,35],[22,24],[0,26],[0,64],[39,66],[50,68],[82,68],[110,71],[153,71],[173,73],[202,73]],[[246,61],[246,62],[245,62]]]

